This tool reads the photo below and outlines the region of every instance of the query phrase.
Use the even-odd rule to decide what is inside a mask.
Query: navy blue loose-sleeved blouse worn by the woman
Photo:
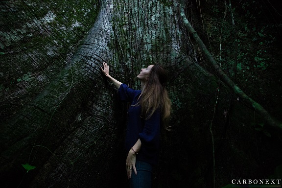
[[[141,106],[132,106],[138,102],[140,94],[141,90],[133,90],[125,84],[118,89],[120,99],[131,103],[127,112],[125,151],[128,152],[140,139],[141,149],[136,159],[154,165],[158,162],[161,112],[158,109],[149,119],[141,118]]]

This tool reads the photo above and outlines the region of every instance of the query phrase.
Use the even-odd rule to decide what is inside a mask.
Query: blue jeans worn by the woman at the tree
[[[130,188],[151,188],[152,187],[152,165],[142,161],[136,161],[137,175],[132,168]]]

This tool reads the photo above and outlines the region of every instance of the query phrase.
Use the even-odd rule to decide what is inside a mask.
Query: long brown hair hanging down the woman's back
[[[141,117],[148,119],[160,107],[162,122],[170,116],[171,101],[164,87],[167,73],[159,64],[154,64],[145,81],[142,97],[136,105],[141,105]]]

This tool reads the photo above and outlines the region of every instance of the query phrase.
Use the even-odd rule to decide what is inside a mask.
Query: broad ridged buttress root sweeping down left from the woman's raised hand
[[[116,151],[110,147],[121,140],[115,126],[119,118],[110,108],[113,91],[103,89],[98,67],[113,56],[107,47],[113,35],[112,11],[112,2],[103,1],[94,26],[67,66],[1,125],[1,179],[8,180],[8,187],[27,186],[34,177],[31,186],[78,186],[83,179],[99,179],[97,174],[111,167],[102,168],[99,159],[111,161]],[[96,142],[100,146],[93,150]],[[37,169],[26,173],[21,165],[26,163]],[[88,168],[80,168],[81,163]],[[90,172],[92,176],[85,175]],[[102,184],[107,179],[95,181]]]

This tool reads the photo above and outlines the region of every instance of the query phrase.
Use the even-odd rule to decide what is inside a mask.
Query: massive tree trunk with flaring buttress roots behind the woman
[[[41,22],[58,22],[52,20],[55,17],[51,4],[56,2],[51,0],[31,5],[27,1],[21,2],[27,7],[21,17],[41,20],[39,17],[43,13],[37,12],[36,8],[38,4],[47,4],[45,8],[50,9],[47,12],[49,20],[43,19]],[[78,14],[82,9],[91,12],[93,3],[82,1],[83,8],[73,4],[69,8],[64,3],[58,4],[58,7],[67,7],[68,10],[77,8],[75,12]],[[3,2],[1,5],[2,12],[14,15],[12,11],[18,4]],[[59,10],[56,18],[60,14],[65,15]],[[83,15],[87,14],[80,17]],[[101,76],[99,67],[102,61],[108,62],[113,77],[134,89],[140,88],[136,73],[149,64],[162,64],[170,75],[167,89],[173,103],[173,130],[163,134],[160,163],[154,171],[154,186],[211,187],[211,177],[215,175],[211,169],[214,167],[218,180],[216,185],[223,186],[229,182],[229,177],[225,175],[226,171],[234,169],[232,164],[249,163],[250,169],[246,173],[264,169],[251,160],[244,161],[245,155],[250,159],[256,156],[255,149],[251,149],[250,154],[248,147],[241,147],[245,143],[240,139],[241,134],[256,135],[250,126],[241,126],[242,123],[251,124],[248,119],[253,112],[242,109],[212,71],[202,66],[182,23],[178,2],[103,0],[100,1],[96,18],[87,16],[79,22],[85,28],[87,19],[95,22],[89,23],[92,28],[84,38],[81,37],[84,35],[83,29],[64,29],[68,24],[36,25],[43,32],[42,36],[38,36],[42,41],[49,35],[53,36],[47,39],[50,47],[47,49],[24,46],[25,34],[29,32],[22,32],[23,39],[10,37],[15,41],[9,43],[13,32],[6,31],[8,22],[3,24],[6,30],[2,33],[6,38],[1,38],[4,44],[1,60],[10,65],[1,65],[5,76],[1,77],[1,109],[4,110],[0,127],[0,173],[5,187],[128,186],[123,151],[127,106],[119,102],[116,89]],[[77,24],[71,18],[64,22]],[[56,25],[61,30],[51,30]],[[31,33],[33,30],[30,29]],[[62,37],[62,30],[68,34]],[[75,38],[75,42],[68,41],[74,33],[80,37]],[[54,42],[61,38],[62,44]],[[16,45],[18,41],[23,43]],[[71,43],[75,44],[71,47]],[[30,51],[26,52],[26,48]],[[68,51],[68,48],[71,50]],[[50,49],[54,49],[53,53]],[[24,58],[13,54],[17,50],[21,57],[33,62],[32,66],[25,68],[27,65],[22,65],[24,61],[18,61]],[[48,54],[64,55],[55,61]],[[3,81],[7,78],[12,81]],[[44,84],[29,78],[43,80]],[[32,92],[27,92],[26,88]],[[224,89],[217,92],[218,88]],[[232,108],[229,106],[231,101]],[[223,116],[224,113],[228,115]],[[211,141],[211,132],[214,142]],[[256,136],[251,136],[248,141],[252,142],[249,147],[254,148]],[[269,146],[261,142],[257,144],[263,149]],[[261,152],[267,152],[271,147]],[[211,163],[214,151],[218,157],[216,162],[222,161],[215,163],[216,166]],[[236,157],[231,159],[229,154]],[[230,163],[230,160],[233,162]],[[264,161],[268,163],[270,159]],[[226,167],[225,163],[230,165]],[[26,172],[22,164],[36,167]],[[271,164],[271,167],[275,165]],[[232,172],[231,176],[237,174],[240,174],[239,170],[238,173]],[[224,180],[221,182],[221,179]]]

